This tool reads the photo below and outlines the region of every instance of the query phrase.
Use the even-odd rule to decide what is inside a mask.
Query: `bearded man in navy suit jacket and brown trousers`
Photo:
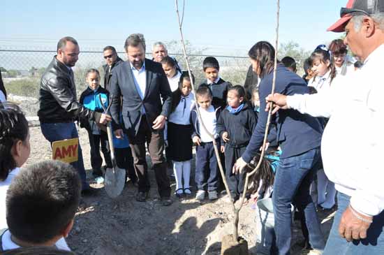
[[[163,128],[171,103],[170,85],[161,64],[145,58],[145,39],[142,34],[128,36],[124,48],[128,61],[113,69],[110,81],[115,136],[121,138],[123,131],[128,135],[138,175],[136,200],[145,201],[150,187],[145,160],[147,143],[161,202],[170,205],[170,180],[163,156]],[[123,122],[120,122],[120,114]]]

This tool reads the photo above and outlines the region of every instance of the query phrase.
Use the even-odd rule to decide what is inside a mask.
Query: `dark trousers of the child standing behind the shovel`
[[[100,135],[92,134],[92,131],[88,131],[89,145],[91,145],[91,166],[94,170],[100,170],[103,165],[103,158],[100,154],[103,152],[105,165],[107,168],[112,168],[112,160],[110,156],[110,145],[108,143],[108,135],[104,131],[100,131]]]

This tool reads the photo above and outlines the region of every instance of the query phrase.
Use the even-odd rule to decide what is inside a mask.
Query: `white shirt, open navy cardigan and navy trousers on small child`
[[[196,107],[196,106],[195,106]],[[216,131],[216,122],[219,119],[221,108],[214,108],[211,105],[207,110],[200,108],[200,114],[204,119],[204,124],[208,131],[214,134],[214,139],[218,147],[220,147],[219,134]],[[212,138],[200,126],[198,112],[195,108],[191,110],[191,124],[193,128],[192,138],[198,136],[201,140],[200,145],[196,145],[196,166],[195,166],[195,182],[199,190],[216,191],[219,180],[219,166],[217,164],[214,152],[214,144]]]

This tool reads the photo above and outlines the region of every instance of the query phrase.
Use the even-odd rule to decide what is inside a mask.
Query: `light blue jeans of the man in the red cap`
[[[350,196],[337,193],[337,212],[334,215],[332,229],[328,236],[327,245],[323,255],[370,255],[384,254],[384,212],[374,217],[374,222],[369,226],[367,238],[364,240],[353,240],[347,242],[339,235],[339,224],[341,216],[349,205]]]

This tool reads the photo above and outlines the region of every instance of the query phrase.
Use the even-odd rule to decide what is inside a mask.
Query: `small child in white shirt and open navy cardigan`
[[[198,108],[201,119],[208,131],[203,128],[198,119],[198,112],[194,108],[191,111],[191,124],[193,126],[192,140],[196,146],[196,168],[195,182],[198,187],[196,200],[202,201],[205,198],[205,190],[208,191],[209,200],[215,200],[219,185],[219,166],[214,152],[212,136],[220,146],[219,134],[216,131],[216,122],[219,119],[221,108],[214,108],[212,105],[212,91],[207,86],[200,86],[196,91]]]

